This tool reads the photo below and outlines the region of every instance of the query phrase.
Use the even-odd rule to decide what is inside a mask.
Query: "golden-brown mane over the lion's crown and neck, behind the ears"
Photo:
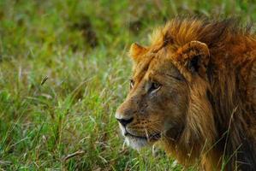
[[[207,44],[210,51],[206,71],[210,85],[207,97],[214,110],[214,127],[220,141],[213,148],[223,151],[224,156],[233,156],[229,160],[229,170],[235,169],[237,161],[256,167],[256,91],[255,85],[252,85],[252,82],[256,84],[256,73],[252,72],[256,68],[256,37],[250,28],[241,27],[240,22],[234,19],[209,21],[177,18],[153,32],[149,47],[153,52],[164,47],[176,52],[191,41]],[[207,119],[202,118],[192,124],[204,124],[202,122],[207,122]],[[200,136],[207,139],[207,132],[203,130]],[[186,158],[183,155],[187,151],[184,151],[181,160]],[[236,154],[235,151],[242,151],[243,154]]]

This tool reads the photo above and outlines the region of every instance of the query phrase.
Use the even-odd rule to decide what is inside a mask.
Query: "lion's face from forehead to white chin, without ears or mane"
[[[188,104],[188,85],[170,58],[161,52],[143,57],[134,67],[128,97],[116,111],[122,135],[136,149],[161,138],[176,139]]]

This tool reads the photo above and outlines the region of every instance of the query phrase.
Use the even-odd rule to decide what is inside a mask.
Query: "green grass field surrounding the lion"
[[[0,170],[182,170],[162,150],[123,145],[114,117],[129,45],[175,15],[246,23],[256,3],[1,0]]]

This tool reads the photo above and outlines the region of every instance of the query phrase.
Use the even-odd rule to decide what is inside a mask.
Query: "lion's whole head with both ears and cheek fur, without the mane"
[[[213,120],[203,79],[207,46],[192,41],[176,51],[164,47],[156,52],[133,44],[130,54],[134,59],[130,91],[116,111],[128,144],[139,149],[163,139],[187,142],[189,149],[188,142],[205,140],[202,130],[212,124],[199,120]]]

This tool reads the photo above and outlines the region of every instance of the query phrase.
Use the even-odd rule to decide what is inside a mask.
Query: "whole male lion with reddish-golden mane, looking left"
[[[256,36],[239,21],[175,18],[132,44],[116,110],[134,149],[162,144],[185,167],[256,169]]]

